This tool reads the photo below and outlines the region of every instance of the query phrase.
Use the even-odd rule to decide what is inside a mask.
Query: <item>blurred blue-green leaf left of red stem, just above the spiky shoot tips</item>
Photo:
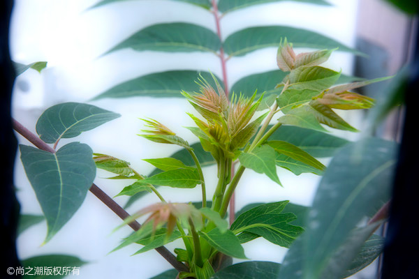
[[[199,75],[208,80],[212,86],[211,74],[196,70],[171,70],[168,72],[152,73],[128,80],[96,96],[94,100],[101,98],[128,98],[136,96],[147,97],[182,97],[182,90],[192,92],[198,91],[196,84]],[[217,77],[217,79],[219,79]]]

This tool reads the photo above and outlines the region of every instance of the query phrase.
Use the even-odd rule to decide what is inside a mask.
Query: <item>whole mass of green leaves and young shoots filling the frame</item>
[[[101,1],[96,6],[115,1]],[[205,9],[217,7],[208,0],[184,2]],[[220,0],[218,9],[226,14],[266,2],[272,1]],[[321,0],[302,2],[328,5]],[[154,279],[174,278],[178,273],[179,278],[197,279],[345,278],[378,257],[383,239],[373,232],[382,220],[357,226],[365,216],[372,218],[390,199],[397,146],[376,138],[350,143],[326,130],[356,132],[335,110],[369,109],[374,100],[354,93],[353,89],[386,79],[341,84],[341,73],[321,66],[335,47],[358,52],[320,34],[291,27],[253,27],[237,31],[221,42],[209,29],[184,22],[142,29],[110,52],[125,47],[138,51],[212,52],[219,56],[225,52],[228,59],[270,46],[279,46],[279,70],[244,77],[233,84],[233,92],[238,93],[230,98],[219,77],[211,73],[198,75],[193,70],[145,75],[96,97],[183,95],[198,113],[189,114],[196,123],[196,127],[188,127],[197,137],[194,144],[159,121],[144,120],[147,128],[140,136],[182,147],[167,158],[145,159],[156,167],[148,176],[137,172],[123,158],[93,153],[87,144],[71,142],[59,147],[61,138],[77,137],[119,114],[82,103],[62,103],[45,110],[38,119],[36,132],[57,150],[50,153],[20,146],[25,172],[47,222],[45,242],[80,208],[99,168],[112,173],[110,179],[132,182],[117,195],[131,196],[126,206],[148,193],[161,199],[124,220],[122,225],[148,216],[140,229],[114,250],[142,246],[135,253],[138,254],[177,239],[183,241],[184,247],[175,249],[175,253],[189,271],[170,270]],[[293,47],[321,50],[296,54]],[[225,58],[221,56],[221,63],[226,62]],[[262,94],[256,95],[256,89]],[[266,112],[255,116],[263,110]],[[274,124],[270,125],[272,121]],[[328,168],[317,160],[330,156],[333,158]],[[237,169],[235,163],[240,164]],[[214,176],[218,182],[210,201],[202,171],[207,165],[217,166]],[[277,167],[295,175],[323,175],[314,204],[251,204],[239,211],[229,225],[226,211],[245,169],[265,174],[281,186]],[[200,186],[202,202],[168,203],[159,193],[158,187],[162,186]],[[42,218],[26,216],[22,220],[23,230]],[[242,243],[259,237],[289,248],[282,264],[248,261],[229,265],[231,258],[247,259]]]

